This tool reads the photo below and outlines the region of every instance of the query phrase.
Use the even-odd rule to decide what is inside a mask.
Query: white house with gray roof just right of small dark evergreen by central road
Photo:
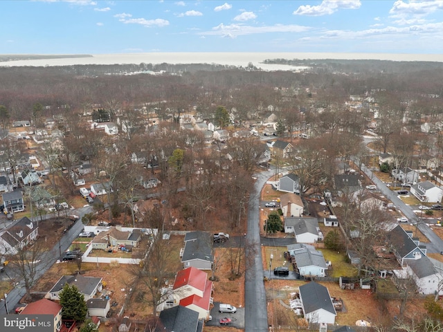
[[[284,219],[284,232],[294,233],[299,243],[316,243],[323,238],[318,232],[318,219],[287,217]]]

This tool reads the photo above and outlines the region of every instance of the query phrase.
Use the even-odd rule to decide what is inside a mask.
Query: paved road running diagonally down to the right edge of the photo
[[[395,207],[398,210],[401,210],[406,218],[409,219],[410,223],[417,225],[417,228],[424,234],[425,237],[428,238],[430,243],[426,243],[426,250],[428,252],[437,252],[440,253],[443,251],[443,240],[440,237],[437,237],[437,234],[429,228],[422,219],[417,217],[417,214],[410,208],[409,205],[406,205],[399,197],[397,196],[397,192],[393,192],[389,187],[386,187],[386,184],[383,183],[377,176],[375,176],[368,167],[364,164],[361,165],[361,170],[365,172],[365,174],[377,185],[377,189],[381,191],[381,193],[394,203]]]

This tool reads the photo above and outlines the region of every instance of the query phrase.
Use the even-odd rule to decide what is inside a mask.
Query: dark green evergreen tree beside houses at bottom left
[[[65,284],[60,292],[60,304],[62,305],[62,317],[64,320],[83,322],[88,308],[84,302],[84,295],[75,286]]]

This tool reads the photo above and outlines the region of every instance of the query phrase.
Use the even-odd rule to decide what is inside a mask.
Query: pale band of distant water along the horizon
[[[437,54],[388,53],[120,53],[96,54],[92,57],[30,59],[0,62],[0,66],[72,66],[75,64],[224,64],[247,66],[250,62],[265,71],[296,70],[280,64],[263,64],[265,59],[377,59],[391,61],[443,62]]]

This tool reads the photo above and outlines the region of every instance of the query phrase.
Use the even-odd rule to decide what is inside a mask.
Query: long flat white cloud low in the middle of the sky
[[[246,26],[244,24],[219,24],[213,30],[197,33],[197,35],[219,35],[235,38],[237,36],[255,35],[261,33],[302,33],[309,30],[306,26],[275,24],[275,26]]]

